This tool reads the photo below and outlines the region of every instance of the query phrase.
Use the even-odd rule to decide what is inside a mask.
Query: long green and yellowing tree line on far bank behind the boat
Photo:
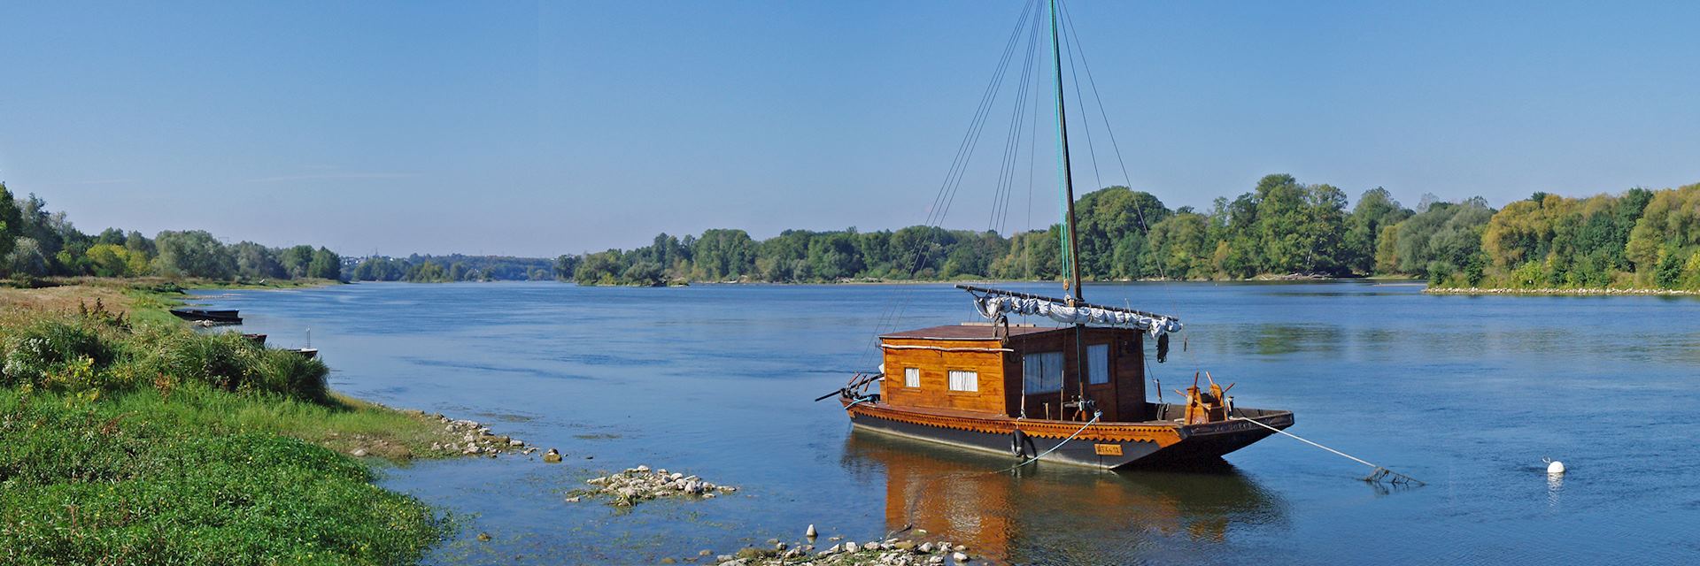
[[[1421,277],[1442,287],[1700,287],[1700,185],[1567,199],[1535,194],[1493,209],[1386,189],[1350,202],[1326,184],[1266,175],[1207,211],[1127,187],[1076,201],[1081,275],[1222,280],[1270,275]],[[648,246],[561,255],[554,275],[592,286],[1061,277],[1061,228],[994,231],[743,229],[658,235]]]

